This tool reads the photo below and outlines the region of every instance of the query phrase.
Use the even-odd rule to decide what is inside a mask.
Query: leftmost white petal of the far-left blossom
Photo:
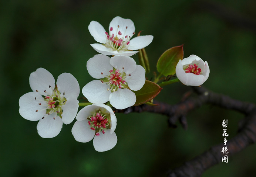
[[[38,121],[46,114],[46,109],[42,110],[47,107],[44,98],[36,92],[24,94],[20,97],[18,104],[20,105],[20,115],[29,121]],[[38,111],[36,112],[36,110]]]

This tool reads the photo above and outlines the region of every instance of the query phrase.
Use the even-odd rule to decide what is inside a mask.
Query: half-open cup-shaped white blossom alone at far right
[[[187,86],[200,86],[209,77],[208,63],[196,55],[179,60],[176,66],[176,76]]]

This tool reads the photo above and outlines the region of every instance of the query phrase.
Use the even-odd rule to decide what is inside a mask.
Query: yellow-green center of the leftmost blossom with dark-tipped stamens
[[[50,88],[51,86],[49,86]],[[36,92],[38,92],[38,90],[36,90]],[[44,93],[47,93],[46,90],[44,90]],[[61,114],[63,113],[63,110],[62,110],[62,106],[66,103],[67,99],[64,97],[65,93],[61,94],[59,91],[58,91],[58,88],[57,86],[55,86],[55,88],[52,90],[52,94],[48,94],[47,96],[43,96],[43,94],[41,94],[42,97],[44,98],[44,102],[41,103],[38,103],[39,105],[42,105],[42,108],[41,110],[36,110],[36,112],[38,111],[45,111],[46,110],[46,116],[47,117],[48,115],[51,115],[52,113],[55,112],[55,116],[53,119],[55,119],[57,117],[57,115],[61,117]],[[36,97],[35,97],[35,100],[36,100]],[[45,117],[43,117],[42,119],[44,119]]]

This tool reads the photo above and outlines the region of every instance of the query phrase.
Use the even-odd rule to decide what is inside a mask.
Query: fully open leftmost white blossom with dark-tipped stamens
[[[58,76],[44,68],[30,74],[32,92],[20,97],[20,115],[30,121],[38,121],[37,131],[42,138],[57,136],[64,124],[70,124],[78,110],[77,97],[80,93],[78,81],[70,73]]]

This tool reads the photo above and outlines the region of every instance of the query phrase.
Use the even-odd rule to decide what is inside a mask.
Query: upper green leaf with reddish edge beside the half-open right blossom
[[[159,76],[174,75],[175,67],[179,60],[183,59],[183,45],[172,47],[165,51],[156,64],[157,71],[160,73]]]

